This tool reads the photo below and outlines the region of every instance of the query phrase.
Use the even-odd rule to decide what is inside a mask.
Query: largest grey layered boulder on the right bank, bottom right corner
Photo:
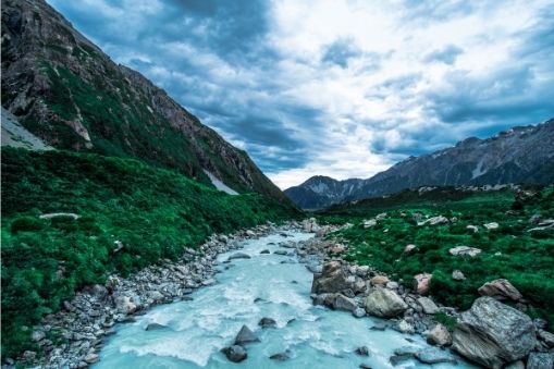
[[[492,297],[480,297],[461,313],[454,329],[453,348],[489,368],[527,356],[537,344],[531,319]]]

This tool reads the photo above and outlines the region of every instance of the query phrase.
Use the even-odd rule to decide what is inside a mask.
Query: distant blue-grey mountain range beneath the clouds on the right
[[[554,119],[496,136],[470,137],[454,147],[410,157],[368,180],[313,176],[285,189],[304,209],[394,194],[421,186],[554,183]]]

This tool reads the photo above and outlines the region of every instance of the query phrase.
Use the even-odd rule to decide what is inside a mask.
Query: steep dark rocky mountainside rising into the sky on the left
[[[134,157],[209,184],[287,198],[239,150],[44,0],[2,0],[2,106],[48,145]]]

